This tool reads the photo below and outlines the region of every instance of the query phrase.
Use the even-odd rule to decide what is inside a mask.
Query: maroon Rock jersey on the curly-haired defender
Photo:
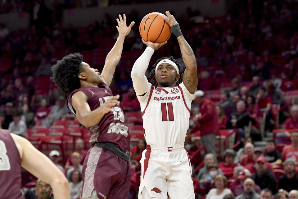
[[[71,96],[78,92],[84,92],[89,98],[91,111],[103,105],[106,99],[113,96],[111,89],[105,83],[99,87],[86,86],[74,90],[67,98],[68,109],[75,114],[71,104]],[[90,144],[95,142],[111,142],[124,153],[130,150],[130,136],[124,113],[119,105],[112,107],[112,112],[106,113],[98,124],[89,128],[91,131]]]

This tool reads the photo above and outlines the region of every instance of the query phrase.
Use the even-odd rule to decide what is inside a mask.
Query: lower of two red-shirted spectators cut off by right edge
[[[282,160],[291,158],[295,164],[298,164],[298,132],[291,133],[291,144],[284,146],[282,149]]]

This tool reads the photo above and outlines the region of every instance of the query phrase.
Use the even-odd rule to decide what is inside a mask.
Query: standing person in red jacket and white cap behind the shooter
[[[219,124],[215,105],[210,99],[205,98],[201,90],[196,91],[193,103],[200,105],[201,115],[194,120],[199,123],[196,127],[200,126],[201,145],[206,147],[207,153],[212,153],[216,157],[215,137],[219,134]]]

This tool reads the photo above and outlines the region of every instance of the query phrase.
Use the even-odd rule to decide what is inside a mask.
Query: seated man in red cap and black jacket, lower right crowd
[[[251,179],[255,181],[261,189],[268,188],[272,193],[276,193],[276,177],[267,169],[267,160],[264,156],[260,156],[256,160],[256,173],[252,174]]]

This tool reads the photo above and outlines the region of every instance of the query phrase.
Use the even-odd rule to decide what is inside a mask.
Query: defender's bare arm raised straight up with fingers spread
[[[117,41],[111,51],[108,53],[106,56],[106,62],[102,70],[102,77],[104,78],[106,84],[110,86],[111,81],[113,79],[113,75],[115,72],[115,68],[117,64],[120,61],[121,54],[122,54],[122,49],[123,49],[123,44],[124,44],[124,38],[126,35],[129,34],[131,27],[134,25],[134,21],[130,23],[130,25],[127,27],[126,26],[126,16],[123,14],[123,19],[122,16],[119,15],[119,19],[116,19],[118,25],[116,26],[119,36],[117,38]]]

